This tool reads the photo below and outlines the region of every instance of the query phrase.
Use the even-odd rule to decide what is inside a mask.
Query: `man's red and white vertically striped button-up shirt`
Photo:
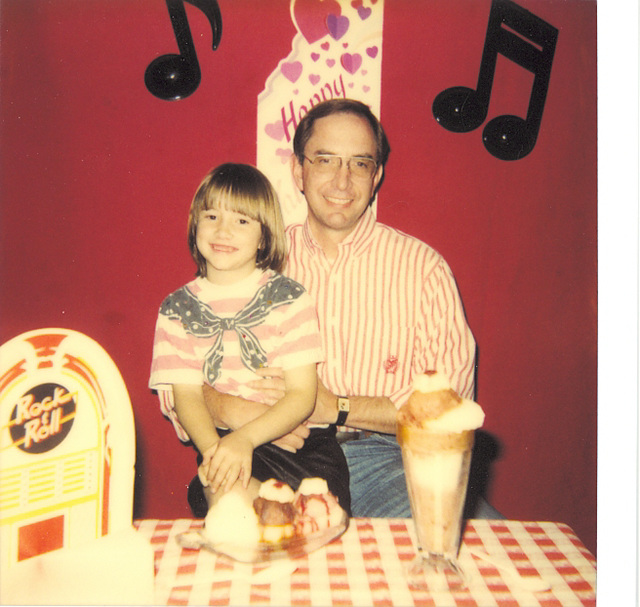
[[[415,376],[446,373],[473,398],[475,351],[453,274],[434,249],[368,209],[331,263],[308,221],[287,228],[285,273],[316,303],[324,349],[318,374],[341,396],[387,396],[402,406]]]

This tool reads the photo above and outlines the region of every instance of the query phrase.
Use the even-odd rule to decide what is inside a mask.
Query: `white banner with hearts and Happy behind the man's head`
[[[286,225],[307,207],[291,177],[293,135],[317,103],[338,97],[380,116],[384,0],[291,0],[291,52],[258,95],[257,165],[273,183]]]

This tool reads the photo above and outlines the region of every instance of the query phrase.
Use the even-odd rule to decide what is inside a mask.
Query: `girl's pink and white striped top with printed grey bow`
[[[282,276],[278,284],[286,282],[287,288],[279,295],[284,303],[259,302],[267,310],[266,316],[259,322],[248,322],[246,327],[238,325],[238,330],[230,327],[220,330],[221,347],[216,347],[218,332],[210,330],[214,316],[236,319],[238,312],[247,310],[246,306],[256,301],[256,294],[264,293],[264,288],[273,284],[277,276],[271,270],[256,270],[232,285],[214,285],[206,278],[196,278],[163,302],[156,323],[149,387],[158,391],[160,408],[173,422],[181,440],[187,441],[189,437],[174,410],[173,384],[209,383],[223,394],[264,402],[264,394],[247,385],[258,378],[253,364],[248,368],[241,353],[240,338],[248,339],[248,332],[264,351],[264,366],[286,370],[322,360],[313,302],[300,285]],[[295,294],[291,295],[292,292]],[[248,313],[249,321],[256,313]],[[212,381],[205,375],[206,362],[216,354],[221,359]]]

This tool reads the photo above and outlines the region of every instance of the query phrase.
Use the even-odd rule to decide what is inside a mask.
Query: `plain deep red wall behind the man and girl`
[[[508,518],[570,524],[596,548],[596,4],[521,0],[559,29],[533,152],[505,162],[482,129],[431,114],[474,86],[489,0],[387,0],[382,120],[392,145],[378,214],[438,249],[479,347]],[[39,327],[97,340],[137,425],[136,517],[189,516],[194,469],[147,389],[162,298],[193,275],[187,209],[221,162],[255,162],[256,100],[289,50],[289,0],[220,0],[222,42],[187,5],[197,91],[161,101],[143,75],[175,39],[162,0],[3,0],[0,341]],[[526,113],[531,76],[498,59],[489,118]]]

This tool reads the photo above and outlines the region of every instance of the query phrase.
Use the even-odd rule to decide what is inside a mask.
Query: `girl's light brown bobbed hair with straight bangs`
[[[189,249],[198,267],[196,276],[207,275],[207,263],[196,245],[200,214],[221,207],[260,223],[262,240],[256,254],[256,266],[261,270],[282,272],[287,243],[278,195],[271,182],[255,167],[226,163],[213,169],[202,180],[189,210]]]

